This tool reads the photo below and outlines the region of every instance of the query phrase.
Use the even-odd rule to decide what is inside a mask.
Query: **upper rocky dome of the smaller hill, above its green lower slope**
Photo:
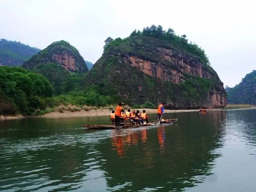
[[[23,67],[33,69],[37,64],[56,63],[68,72],[88,72],[78,50],[65,41],[53,42],[47,48],[31,57]]]

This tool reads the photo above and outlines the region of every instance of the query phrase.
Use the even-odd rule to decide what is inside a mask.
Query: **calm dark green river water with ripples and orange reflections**
[[[154,120],[155,115],[150,115]],[[256,110],[85,130],[108,117],[0,121],[0,191],[256,191]]]

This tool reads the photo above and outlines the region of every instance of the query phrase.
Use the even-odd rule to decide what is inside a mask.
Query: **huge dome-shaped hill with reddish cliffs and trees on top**
[[[83,80],[86,90],[131,105],[166,102],[169,109],[226,105],[226,91],[204,50],[161,26],[107,38],[102,57]]]

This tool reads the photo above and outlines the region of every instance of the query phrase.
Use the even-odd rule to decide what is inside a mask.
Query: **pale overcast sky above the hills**
[[[0,38],[39,49],[61,39],[95,63],[107,37],[161,25],[201,46],[224,85],[256,61],[253,0],[0,0]]]

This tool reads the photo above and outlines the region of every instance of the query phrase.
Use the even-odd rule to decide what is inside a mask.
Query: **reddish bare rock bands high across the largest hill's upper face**
[[[212,75],[207,70],[202,69],[202,63],[194,57],[188,57],[183,53],[176,53],[173,52],[172,49],[166,49],[163,47],[158,47],[157,53],[159,58],[165,59],[176,65],[179,70],[172,69],[169,66],[161,64],[161,62],[145,60],[138,56],[128,56],[125,58],[125,62],[136,67],[147,75],[173,83],[182,82],[181,72],[189,75],[196,75],[201,78],[212,78]]]

